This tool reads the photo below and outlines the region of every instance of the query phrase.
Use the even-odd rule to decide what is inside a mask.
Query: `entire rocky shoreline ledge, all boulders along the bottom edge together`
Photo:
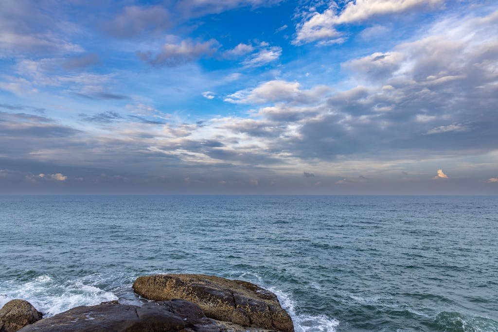
[[[137,278],[133,289],[151,302],[104,302],[41,319],[29,302],[12,300],[0,309],[0,332],[294,332],[276,295],[246,281],[161,274]]]

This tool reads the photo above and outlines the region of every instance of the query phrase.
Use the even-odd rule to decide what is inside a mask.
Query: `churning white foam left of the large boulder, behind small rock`
[[[0,304],[12,299],[29,301],[45,317],[50,317],[77,306],[96,305],[105,301],[117,300],[111,292],[104,291],[81,280],[59,283],[48,275],[36,277],[25,283],[10,283],[0,295]]]

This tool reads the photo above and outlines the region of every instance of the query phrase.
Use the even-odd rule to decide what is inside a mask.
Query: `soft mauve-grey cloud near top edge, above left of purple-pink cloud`
[[[104,30],[117,38],[131,38],[145,32],[159,33],[171,27],[169,12],[162,6],[127,6],[112,21],[104,24]]]

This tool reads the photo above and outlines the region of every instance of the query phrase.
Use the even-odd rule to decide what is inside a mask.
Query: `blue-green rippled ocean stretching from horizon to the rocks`
[[[0,305],[173,272],[268,288],[297,332],[498,331],[498,197],[0,196]]]

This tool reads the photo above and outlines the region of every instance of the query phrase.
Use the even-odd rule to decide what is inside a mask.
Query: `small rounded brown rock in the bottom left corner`
[[[13,332],[41,320],[43,316],[31,303],[11,300],[0,309],[0,332]]]

